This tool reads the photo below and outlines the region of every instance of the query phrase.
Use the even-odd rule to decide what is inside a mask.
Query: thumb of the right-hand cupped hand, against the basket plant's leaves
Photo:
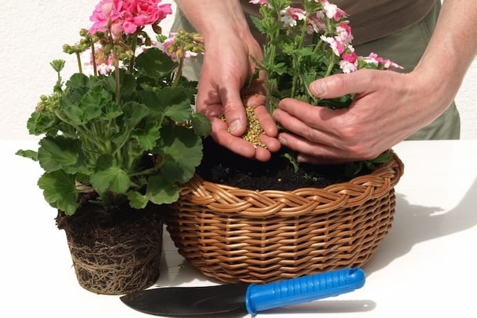
[[[362,93],[368,89],[369,70],[360,70],[348,74],[335,74],[310,83],[310,92],[320,98],[335,98],[346,94]]]

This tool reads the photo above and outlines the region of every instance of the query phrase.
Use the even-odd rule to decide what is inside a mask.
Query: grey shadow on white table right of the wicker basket
[[[363,270],[371,274],[409,252],[417,243],[474,227],[477,225],[476,198],[477,179],[456,207],[441,214],[440,207],[410,205],[404,196],[397,194],[391,230]]]

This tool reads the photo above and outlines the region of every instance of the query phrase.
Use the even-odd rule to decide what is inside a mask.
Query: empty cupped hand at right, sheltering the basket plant
[[[433,87],[417,72],[364,69],[310,84],[320,98],[355,93],[348,109],[327,109],[284,99],[273,118],[288,132],[281,144],[299,152],[299,162],[315,164],[368,160],[424,127],[451,103],[452,91]]]

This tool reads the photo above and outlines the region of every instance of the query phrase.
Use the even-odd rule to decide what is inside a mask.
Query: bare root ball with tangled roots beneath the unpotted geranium
[[[159,277],[163,212],[158,207],[105,211],[80,197],[72,216],[59,212],[79,285],[98,294],[143,290]]]

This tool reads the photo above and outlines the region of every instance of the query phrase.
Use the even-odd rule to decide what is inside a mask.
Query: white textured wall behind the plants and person
[[[55,73],[49,63],[53,59],[66,59],[64,78],[77,71],[75,59],[62,52],[62,45],[75,44],[78,30],[91,26],[89,17],[98,0],[1,2],[0,140],[30,139],[26,120],[39,96],[51,93],[55,84]],[[172,3],[176,11],[172,0],[163,3]],[[173,18],[169,15],[162,21],[166,34]],[[477,138],[476,87],[474,60],[456,97],[462,117],[462,139]]]

